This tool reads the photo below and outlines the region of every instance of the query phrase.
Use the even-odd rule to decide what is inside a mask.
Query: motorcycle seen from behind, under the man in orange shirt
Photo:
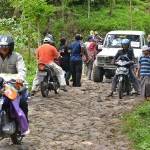
[[[41,94],[43,97],[48,97],[49,91],[54,91],[58,94],[60,84],[54,69],[50,65],[40,64],[38,66],[38,80],[40,82]]]

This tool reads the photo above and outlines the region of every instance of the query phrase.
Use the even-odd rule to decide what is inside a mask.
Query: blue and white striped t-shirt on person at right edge
[[[139,60],[140,75],[150,76],[150,56],[142,56]]]

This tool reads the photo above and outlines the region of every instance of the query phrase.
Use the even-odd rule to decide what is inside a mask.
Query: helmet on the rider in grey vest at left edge
[[[14,40],[11,36],[0,36],[0,48],[9,48],[12,52],[14,50]]]

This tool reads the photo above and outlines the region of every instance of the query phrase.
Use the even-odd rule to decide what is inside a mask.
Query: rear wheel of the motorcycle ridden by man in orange
[[[43,97],[48,97],[49,94],[49,84],[48,84],[48,78],[45,77],[44,80],[40,83],[41,87],[41,94]]]

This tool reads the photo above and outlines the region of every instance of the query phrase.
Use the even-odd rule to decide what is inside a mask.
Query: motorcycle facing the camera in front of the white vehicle
[[[124,93],[129,95],[131,91],[129,69],[133,62],[127,56],[122,56],[118,58],[115,65],[117,66],[115,74],[117,76],[119,99],[122,99]]]

